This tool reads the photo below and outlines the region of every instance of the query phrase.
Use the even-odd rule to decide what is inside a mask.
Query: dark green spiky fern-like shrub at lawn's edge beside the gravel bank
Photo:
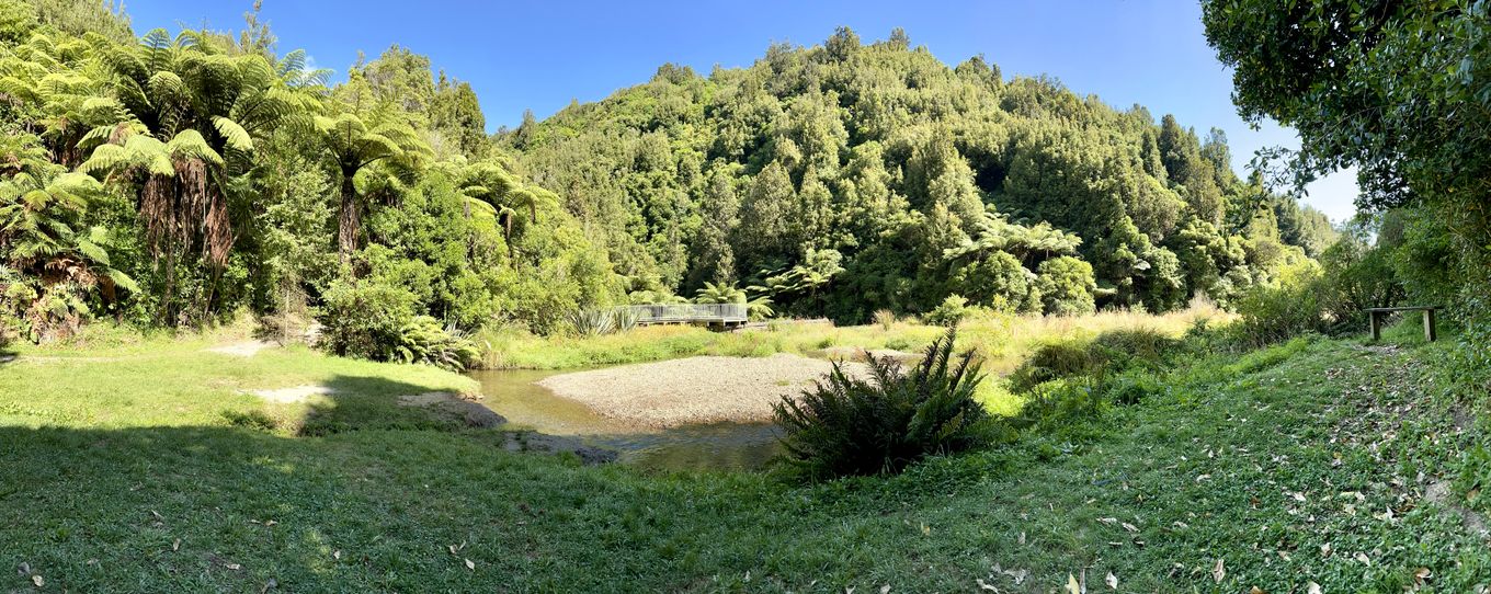
[[[774,405],[787,460],[813,478],[893,473],[932,454],[975,448],[1008,427],[974,399],[983,377],[972,353],[953,354],[954,332],[933,341],[911,372],[871,357],[869,378],[839,363],[802,393]]]

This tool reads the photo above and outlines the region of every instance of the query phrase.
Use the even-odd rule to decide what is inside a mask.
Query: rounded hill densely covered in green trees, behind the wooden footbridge
[[[1005,79],[983,57],[948,67],[899,30],[774,45],[707,77],[663,66],[499,143],[628,290],[738,281],[841,320],[950,295],[1036,313],[1226,304],[1333,234],[1239,179],[1220,130]]]

